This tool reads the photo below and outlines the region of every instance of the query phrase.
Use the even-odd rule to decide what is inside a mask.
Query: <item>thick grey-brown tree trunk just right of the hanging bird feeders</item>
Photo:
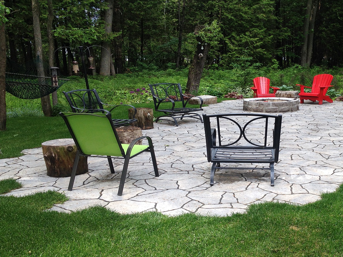
[[[105,33],[110,34],[112,32],[112,21],[113,21],[113,0],[106,0],[107,9],[104,14],[105,22]],[[101,43],[101,60],[100,60],[100,75],[109,76],[111,72],[112,57],[110,56],[110,43],[104,41]],[[115,74],[112,74],[115,75]]]

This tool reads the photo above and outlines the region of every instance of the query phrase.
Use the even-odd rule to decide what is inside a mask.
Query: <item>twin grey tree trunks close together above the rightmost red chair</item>
[[[307,0],[306,15],[304,22],[304,41],[301,47],[300,65],[310,66],[313,47],[313,31],[315,27],[316,12],[318,8],[318,0]]]

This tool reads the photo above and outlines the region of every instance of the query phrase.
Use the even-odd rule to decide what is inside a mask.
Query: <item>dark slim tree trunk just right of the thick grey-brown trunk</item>
[[[120,5],[119,1],[114,1],[114,10],[113,10],[113,25],[112,30],[113,32],[120,32],[121,31],[121,22],[120,22]],[[123,63],[123,56],[122,56],[122,35],[118,35],[113,40],[114,45],[114,61],[115,61],[115,71],[116,73],[123,73],[124,63]]]

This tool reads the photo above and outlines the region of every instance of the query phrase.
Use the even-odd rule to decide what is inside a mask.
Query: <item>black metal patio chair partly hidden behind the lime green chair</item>
[[[132,105],[107,105],[100,100],[100,97],[95,89],[78,89],[69,92],[64,92],[67,101],[71,107],[71,111],[75,113],[92,113],[94,110],[101,110],[104,108],[111,108],[109,112],[113,114],[113,110],[120,106],[129,106],[134,109],[133,119],[113,119],[113,124],[116,127],[126,126],[130,123],[136,122],[135,115],[137,110]],[[102,111],[103,112],[103,111]],[[103,112],[104,113],[104,112]]]

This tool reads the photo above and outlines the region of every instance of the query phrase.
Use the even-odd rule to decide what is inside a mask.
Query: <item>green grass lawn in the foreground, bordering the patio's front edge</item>
[[[0,181],[0,187],[8,183]],[[251,205],[246,214],[230,217],[121,215],[103,207],[71,214],[44,211],[65,200],[51,191],[0,196],[0,256],[331,257],[343,253],[343,186],[315,203]]]

